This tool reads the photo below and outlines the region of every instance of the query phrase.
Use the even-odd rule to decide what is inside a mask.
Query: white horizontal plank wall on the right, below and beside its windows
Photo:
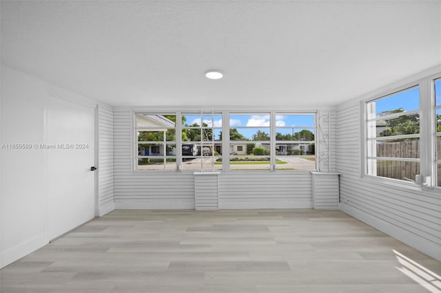
[[[441,259],[441,196],[360,177],[360,105],[340,107],[337,133],[340,209]]]

